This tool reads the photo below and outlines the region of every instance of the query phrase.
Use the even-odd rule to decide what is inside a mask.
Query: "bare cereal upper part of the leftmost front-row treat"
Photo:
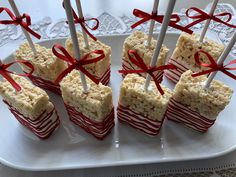
[[[20,84],[21,91],[15,88],[6,80],[0,81],[0,95],[19,113],[32,120],[37,119],[45,110],[50,112],[54,109],[49,101],[47,93],[34,86],[24,77],[11,75]]]

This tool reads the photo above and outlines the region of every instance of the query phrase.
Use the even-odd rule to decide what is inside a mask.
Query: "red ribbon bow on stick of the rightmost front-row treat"
[[[200,55],[199,55],[199,53],[205,54],[205,55],[207,56],[207,58],[209,59],[210,64],[202,63],[202,62],[200,61]],[[194,54],[194,58],[195,58],[195,61],[196,61],[196,63],[197,63],[198,65],[204,66],[204,67],[209,67],[210,69],[209,69],[209,70],[206,70],[206,71],[201,71],[201,72],[199,72],[199,73],[194,73],[194,74],[192,74],[193,77],[197,77],[197,76],[204,75],[204,74],[209,74],[209,73],[215,72],[215,71],[221,71],[221,72],[225,73],[226,75],[228,75],[229,77],[231,77],[231,78],[233,78],[233,79],[236,80],[236,76],[233,75],[232,73],[230,73],[229,71],[227,71],[227,70],[236,70],[236,67],[235,67],[235,68],[229,68],[229,67],[227,67],[227,66],[229,66],[229,65],[236,64],[236,60],[232,60],[232,61],[230,61],[230,62],[229,62],[228,64],[226,64],[226,65],[223,65],[223,64],[218,65],[218,64],[216,63],[216,61],[213,59],[213,57],[212,57],[209,53],[207,53],[207,52],[205,52],[205,51],[198,51],[198,52],[196,52],[196,53]]]

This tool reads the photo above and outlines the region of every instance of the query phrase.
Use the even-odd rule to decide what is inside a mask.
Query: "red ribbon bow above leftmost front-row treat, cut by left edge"
[[[27,74],[17,74],[17,73],[14,73],[12,71],[7,70],[7,68],[11,67],[12,65],[14,65],[16,63],[24,64],[25,66],[30,68],[31,71],[29,73],[27,73]],[[10,84],[16,89],[16,91],[20,91],[21,87],[20,87],[19,84],[16,83],[16,81],[14,79],[12,79],[10,74],[15,74],[15,75],[18,75],[18,76],[29,76],[33,72],[34,72],[34,67],[28,61],[18,60],[18,61],[14,61],[14,62],[11,62],[11,63],[8,63],[8,64],[0,63],[0,75],[2,75],[8,82],[10,82]]]

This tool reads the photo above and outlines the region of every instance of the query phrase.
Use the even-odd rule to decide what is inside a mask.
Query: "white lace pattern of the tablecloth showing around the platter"
[[[210,5],[208,5],[205,10],[209,11]],[[181,16],[182,25],[187,25],[191,22],[191,19],[185,16],[186,9],[182,9],[179,12]],[[233,23],[236,24],[236,10],[230,4],[220,3],[217,6],[216,14],[221,12],[230,12],[233,15]],[[114,34],[130,34],[133,30],[130,28],[138,19],[135,18],[131,13],[130,15],[122,15],[120,17],[112,16],[109,13],[102,13],[97,17],[100,21],[100,27],[96,31],[92,31],[94,35],[114,35]],[[53,21],[50,17],[44,17],[41,21],[32,25],[32,29],[35,30],[42,36],[42,39],[54,39],[67,37],[69,35],[68,25],[65,23],[66,19],[60,19],[58,21]],[[92,25],[92,24],[91,24]],[[148,23],[138,26],[135,30],[140,30],[143,32],[148,32]],[[79,25],[77,25],[78,30],[81,30]],[[194,26],[192,29],[194,31],[200,31],[204,27],[204,22]],[[235,29],[224,26],[222,24],[212,22],[209,30],[218,36],[218,39],[227,44]],[[160,31],[160,25],[156,24],[154,32]],[[179,33],[176,29],[169,28],[168,32]],[[20,27],[14,25],[0,25],[0,47],[6,45],[12,41],[24,40],[24,35]],[[233,48],[232,53],[236,56],[236,46]],[[0,171],[9,171],[9,167],[5,167],[0,164]],[[11,169],[12,170],[12,169]],[[167,171],[157,171],[149,172],[145,174],[127,174],[127,175],[115,175],[114,177],[235,177],[236,176],[236,165],[231,164],[229,166],[222,166],[217,168],[201,168],[201,169],[178,169],[178,170],[167,170]]]

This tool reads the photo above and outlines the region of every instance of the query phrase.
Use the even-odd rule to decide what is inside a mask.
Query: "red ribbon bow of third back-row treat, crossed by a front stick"
[[[141,25],[142,23],[145,23],[149,20],[155,20],[158,23],[162,23],[163,19],[164,19],[164,15],[157,15],[157,13],[152,13],[152,14],[148,14],[144,11],[141,11],[139,9],[134,9],[133,11],[134,16],[138,17],[138,18],[142,18],[140,21],[136,22],[135,24],[133,24],[131,26],[131,28],[136,28],[138,25]],[[181,31],[184,31],[186,33],[192,34],[193,31],[188,29],[187,27],[183,27],[178,25],[177,23],[180,22],[180,17],[177,14],[173,14],[171,15],[171,20],[169,23],[169,26],[179,29]]]

